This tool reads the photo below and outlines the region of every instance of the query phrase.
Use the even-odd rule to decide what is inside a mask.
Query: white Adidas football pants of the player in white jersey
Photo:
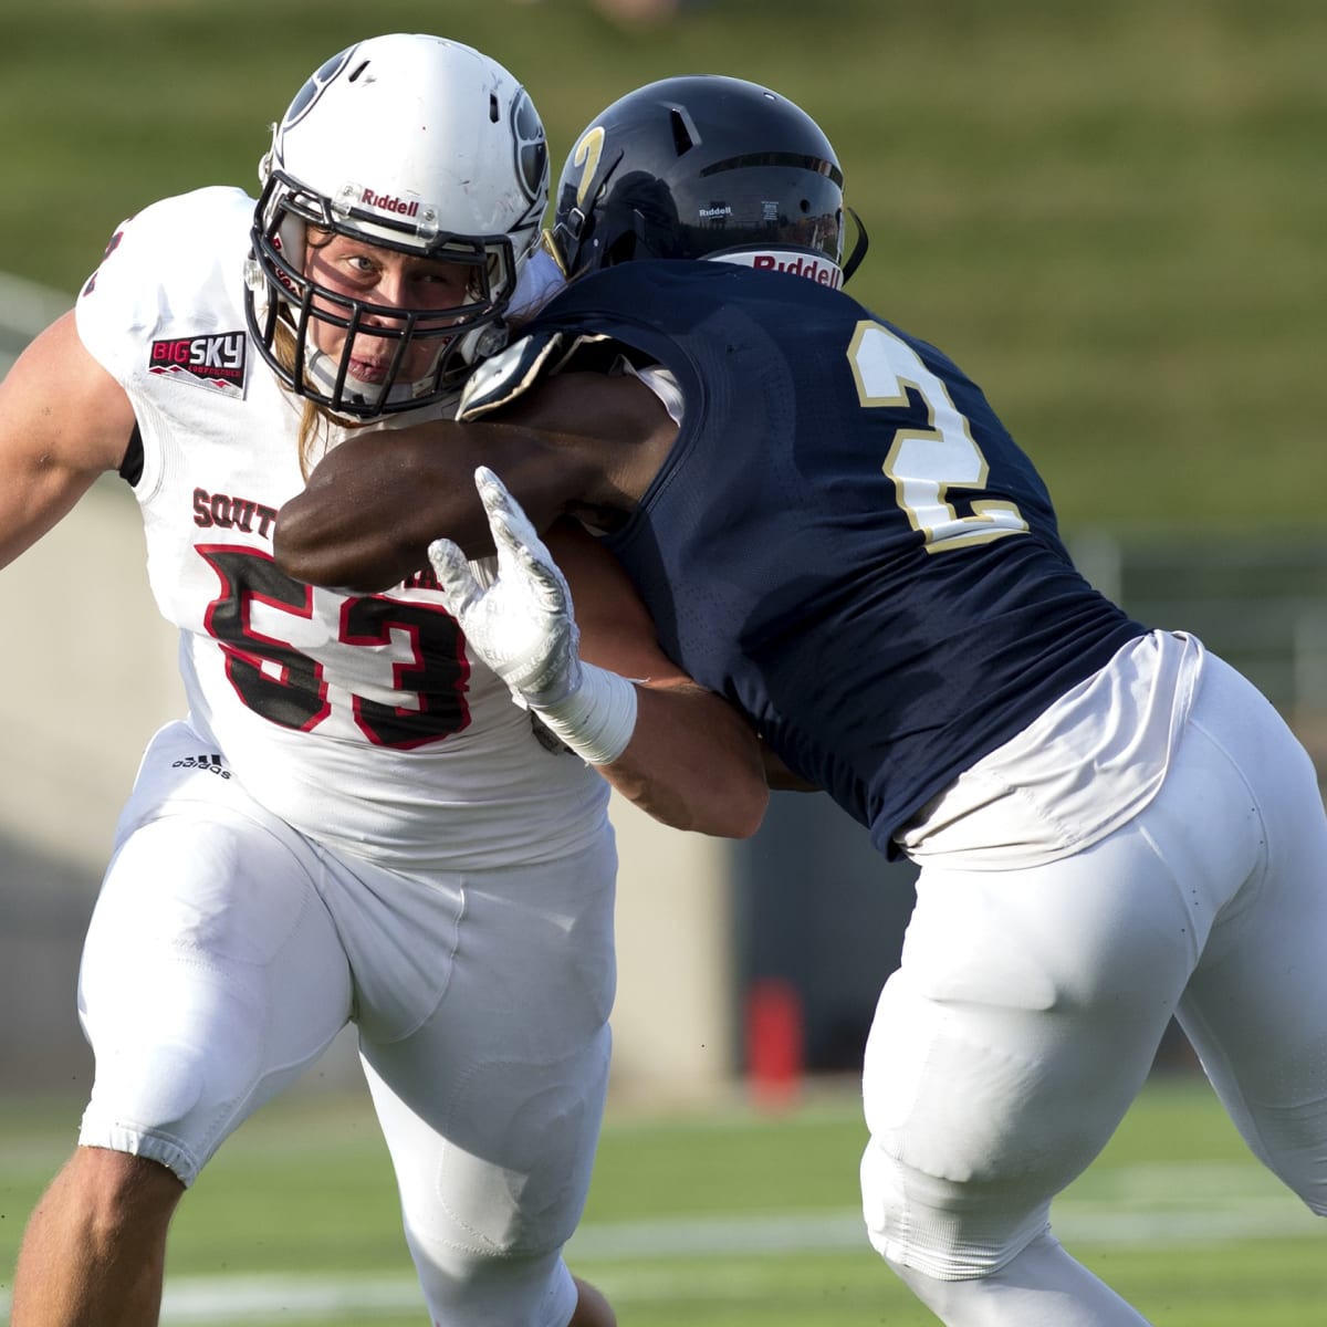
[[[163,730],[121,819],[80,1143],[188,1185],[353,1019],[433,1320],[565,1327],[608,1084],[608,821],[571,859],[409,877],[318,848],[199,750]]]

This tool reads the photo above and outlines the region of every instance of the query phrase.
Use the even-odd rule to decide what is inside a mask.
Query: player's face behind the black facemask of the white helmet
[[[348,235],[329,235],[311,231],[304,255],[304,273],[318,285],[352,300],[366,304],[390,305],[415,313],[438,311],[441,317],[426,318],[421,328],[447,326],[446,311],[470,300],[468,285],[472,268],[463,263],[439,263],[434,259],[398,253],[380,248]],[[314,299],[314,309],[325,309],[333,317],[345,317],[345,309]],[[401,318],[372,316],[365,326],[381,326],[385,332],[398,332]],[[340,358],[346,332],[321,318],[309,322],[313,342],[325,354]],[[423,377],[438,353],[437,340],[413,341],[397,381],[409,382]],[[361,382],[382,382],[397,350],[395,340],[361,333],[352,349],[349,372]]]

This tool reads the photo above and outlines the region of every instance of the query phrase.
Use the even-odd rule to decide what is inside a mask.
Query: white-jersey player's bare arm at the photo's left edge
[[[57,318],[0,382],[0,565],[119,466],[133,430],[129,398],[84,349],[73,313]]]

